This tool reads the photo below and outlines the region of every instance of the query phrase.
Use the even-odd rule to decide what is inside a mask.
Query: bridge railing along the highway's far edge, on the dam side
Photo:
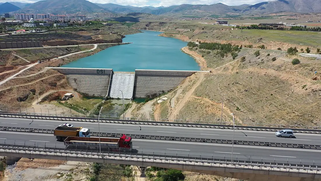
[[[2,114],[1,114],[2,113]],[[51,117],[54,119],[69,119],[70,121],[92,121],[94,119],[98,119],[96,115],[81,115],[81,114],[51,114],[51,113],[32,113],[32,112],[12,112],[12,111],[0,111],[0,117],[23,117],[23,116],[37,116],[37,119],[49,119]],[[73,120],[72,120],[73,119]],[[194,127],[204,127],[204,126],[216,126],[218,128],[232,128],[232,122],[219,122],[219,121],[193,121],[193,120],[169,120],[169,119],[152,119],[152,118],[134,118],[134,117],[125,117],[125,120],[120,117],[112,117],[112,116],[100,116],[100,120],[103,121],[118,121],[118,122],[144,122],[146,124],[153,123],[167,123],[167,124],[189,124],[189,126]],[[262,131],[271,131],[266,129],[273,129],[272,131],[276,131],[279,129],[297,129],[297,130],[305,130],[305,131],[321,131],[321,127],[319,126],[300,126],[300,125],[282,125],[282,124],[259,124],[259,123],[235,123],[235,126],[238,128],[245,129],[260,129]],[[247,128],[246,128],[247,127]]]

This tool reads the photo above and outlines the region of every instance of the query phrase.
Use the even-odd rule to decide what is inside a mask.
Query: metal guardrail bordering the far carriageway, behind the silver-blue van
[[[35,115],[33,115],[35,114]],[[90,117],[62,117],[62,116],[47,116],[37,115],[38,113],[28,114],[10,114],[0,113],[0,117],[11,118],[27,118],[27,119],[46,119],[46,120],[60,120],[60,121],[77,121],[77,122],[98,122],[98,118]],[[76,115],[73,115],[76,116]],[[101,116],[102,117],[102,116]],[[146,120],[148,120],[146,118]],[[140,125],[162,125],[162,126],[179,126],[179,127],[194,127],[194,128],[216,128],[216,129],[233,129],[233,125],[213,125],[205,123],[188,123],[188,122],[161,122],[161,121],[138,121],[138,120],[121,120],[121,119],[105,119],[100,118],[100,122],[119,123],[119,124],[140,124]],[[295,129],[289,127],[272,128],[272,127],[258,127],[258,126],[239,126],[235,125],[236,130],[254,130],[254,131],[279,131],[280,129],[292,129],[295,133],[311,133],[321,134],[321,127],[311,127],[316,129]]]

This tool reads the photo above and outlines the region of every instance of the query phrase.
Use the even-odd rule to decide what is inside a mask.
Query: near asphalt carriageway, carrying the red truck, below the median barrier
[[[65,148],[63,142],[56,141],[55,136],[51,134],[24,133],[24,132],[0,132],[0,143],[29,145],[40,147]],[[139,153],[161,154],[171,156],[190,156],[204,158],[230,159],[232,145],[196,143],[196,142],[179,142],[165,140],[133,140],[133,149]],[[166,150],[166,153],[165,153]],[[310,149],[290,149],[290,148],[270,148],[257,146],[234,145],[233,159],[267,161],[267,162],[284,162],[284,163],[301,163],[302,164],[319,164],[318,159],[321,150]]]

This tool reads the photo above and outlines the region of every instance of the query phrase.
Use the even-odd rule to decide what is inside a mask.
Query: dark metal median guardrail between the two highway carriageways
[[[0,126],[0,131],[15,131],[15,132],[33,132],[33,133],[48,133],[53,134],[54,130],[48,129],[34,129],[34,128],[16,128],[16,127],[3,127]],[[92,136],[99,136],[99,132],[91,132]],[[115,137],[119,138],[123,134],[120,133],[100,133],[102,137]],[[152,136],[152,135],[138,135],[126,134],[126,136],[136,139],[149,139],[149,140],[170,140],[170,141],[187,141],[187,142],[202,142],[202,143],[219,143],[219,144],[232,144],[233,140],[217,140],[206,138],[186,138],[186,137],[173,137],[173,136]],[[283,147],[283,148],[300,148],[300,149],[321,149],[321,145],[304,145],[292,143],[273,143],[273,142],[260,142],[260,141],[239,141],[234,140],[235,145],[250,145],[250,146],[266,146],[266,147]]]

